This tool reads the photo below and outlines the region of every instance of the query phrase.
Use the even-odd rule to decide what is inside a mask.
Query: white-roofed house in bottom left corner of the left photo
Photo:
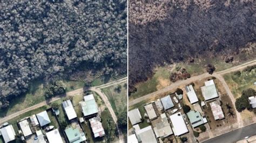
[[[0,128],[0,132],[3,136],[4,142],[9,142],[15,140],[15,131],[12,125],[5,126]]]

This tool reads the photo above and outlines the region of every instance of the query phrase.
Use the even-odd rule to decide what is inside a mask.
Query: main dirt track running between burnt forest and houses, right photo
[[[252,65],[255,65],[255,64],[256,64],[256,60],[253,60],[253,61],[250,61],[250,62],[246,62],[242,65],[232,67],[230,69],[226,69],[226,70],[223,70],[223,71],[218,71],[214,74],[215,75],[223,75],[223,74],[231,73],[233,71],[240,70],[240,69],[243,69],[247,66],[252,66]],[[202,78],[206,78],[206,77],[210,77],[210,76],[213,76],[213,75],[210,75],[208,73],[204,73],[204,74],[201,74],[201,75],[198,75],[198,76],[192,76],[190,78],[187,78],[187,80],[177,81],[177,82],[169,85],[168,87],[166,87],[164,89],[160,89],[156,92],[152,92],[151,94],[147,94],[147,95],[144,95],[144,96],[136,98],[136,99],[130,99],[129,100],[129,106],[132,106],[134,104],[137,104],[137,103],[140,103],[140,102],[143,102],[143,101],[147,101],[147,99],[150,99],[150,98],[153,98],[153,97],[157,97],[161,94],[164,94],[165,92],[169,92],[170,90],[179,87],[180,85],[185,85],[185,84],[188,84],[188,83],[191,83],[191,82],[194,82],[194,81],[197,81],[197,80],[201,80]]]

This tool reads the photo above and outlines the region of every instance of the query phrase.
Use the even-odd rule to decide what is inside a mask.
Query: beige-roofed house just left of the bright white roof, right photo
[[[163,113],[160,117],[161,121],[156,124],[156,127],[154,127],[154,133],[156,133],[157,138],[165,138],[173,134],[173,132],[166,114]]]

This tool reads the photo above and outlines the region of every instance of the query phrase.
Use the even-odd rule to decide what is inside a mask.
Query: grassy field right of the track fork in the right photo
[[[256,90],[256,86],[253,83],[256,81],[256,71],[253,69],[251,72],[242,72],[241,75],[234,75],[234,73],[224,75],[225,81],[228,87],[232,91],[235,98],[241,96],[243,90],[253,88]]]

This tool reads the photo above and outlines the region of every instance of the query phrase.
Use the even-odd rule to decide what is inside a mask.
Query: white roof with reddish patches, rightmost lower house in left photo
[[[89,119],[90,125],[92,128],[92,132],[94,134],[94,137],[103,137],[105,135],[104,128],[102,126],[102,123],[100,123],[100,118],[99,117],[93,117]]]

